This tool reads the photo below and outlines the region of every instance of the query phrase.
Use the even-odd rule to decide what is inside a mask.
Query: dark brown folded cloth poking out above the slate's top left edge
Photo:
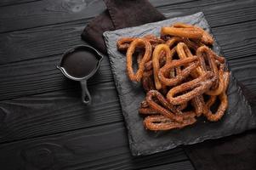
[[[82,31],[82,39],[106,54],[103,32],[165,20],[147,0],[104,0],[107,9]]]

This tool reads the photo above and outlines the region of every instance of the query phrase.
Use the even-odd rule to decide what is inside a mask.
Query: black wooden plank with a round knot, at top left
[[[2,7],[0,32],[88,19],[100,14],[104,9],[105,4],[101,0],[42,0]],[[9,11],[15,12],[10,13]]]

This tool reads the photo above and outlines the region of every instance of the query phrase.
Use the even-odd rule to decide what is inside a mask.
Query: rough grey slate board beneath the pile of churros
[[[187,15],[143,26],[124,28],[117,31],[104,33],[105,43],[111,61],[111,70],[117,86],[122,113],[128,128],[130,149],[134,156],[149,155],[163,150],[172,149],[179,144],[196,144],[206,139],[218,139],[234,133],[242,133],[247,129],[256,127],[256,116],[251,111],[238,86],[236,78],[230,77],[228,88],[229,108],[225,116],[219,122],[208,122],[204,118],[183,129],[175,129],[168,132],[151,132],[145,130],[143,117],[139,116],[139,103],[145,99],[145,93],[139,83],[131,82],[126,75],[126,57],[117,51],[117,40],[120,37],[143,37],[147,34],[155,34],[159,37],[162,26],[170,26],[175,22],[184,22],[201,26],[210,32],[207,20],[202,13]],[[213,50],[220,53],[217,43],[213,44]]]

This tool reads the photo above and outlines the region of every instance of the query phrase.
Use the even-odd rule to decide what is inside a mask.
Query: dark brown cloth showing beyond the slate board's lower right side
[[[238,83],[252,111],[256,111],[256,94],[251,93],[241,82]],[[184,149],[196,170],[256,169],[256,129],[223,139],[187,145]]]

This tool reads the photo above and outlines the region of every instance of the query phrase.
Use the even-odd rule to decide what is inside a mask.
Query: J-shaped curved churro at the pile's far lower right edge
[[[228,107],[228,97],[225,91],[228,88],[229,81],[230,81],[230,73],[228,71],[225,71],[224,73],[225,88],[223,92],[218,96],[220,100],[218,111],[216,111],[216,113],[213,114],[212,111],[210,110],[210,107],[208,107],[208,110],[204,112],[204,115],[207,117],[208,121],[217,122],[219,121],[219,119],[221,119],[222,116],[224,116],[225,110]]]

